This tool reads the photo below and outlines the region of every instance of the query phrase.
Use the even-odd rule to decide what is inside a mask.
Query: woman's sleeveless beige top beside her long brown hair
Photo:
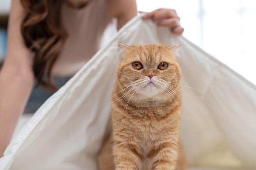
[[[81,8],[63,4],[63,24],[68,33],[53,74],[74,75],[99,50],[104,30],[111,22],[107,0],[91,0]]]

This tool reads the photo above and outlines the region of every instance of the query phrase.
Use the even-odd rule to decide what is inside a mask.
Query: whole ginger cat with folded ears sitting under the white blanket
[[[175,60],[180,46],[119,46],[123,58],[112,93],[112,131],[99,153],[99,169],[185,170],[181,71]]]

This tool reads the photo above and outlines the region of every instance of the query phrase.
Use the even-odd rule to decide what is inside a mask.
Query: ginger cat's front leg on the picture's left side
[[[138,148],[125,142],[115,142],[113,156],[116,170],[140,170],[141,156]]]

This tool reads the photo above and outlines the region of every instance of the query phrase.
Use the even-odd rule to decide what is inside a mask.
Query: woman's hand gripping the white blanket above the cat
[[[184,28],[180,26],[180,18],[174,9],[157,9],[150,13],[146,13],[142,19],[151,19],[158,26],[167,26],[173,33],[181,35]]]

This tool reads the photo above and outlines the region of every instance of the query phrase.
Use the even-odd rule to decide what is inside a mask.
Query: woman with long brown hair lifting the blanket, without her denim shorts
[[[0,157],[23,113],[34,78],[49,91],[54,77],[71,77],[99,49],[112,18],[117,29],[137,15],[135,0],[13,0],[7,56],[0,72]],[[174,33],[183,28],[174,10],[147,13]]]

